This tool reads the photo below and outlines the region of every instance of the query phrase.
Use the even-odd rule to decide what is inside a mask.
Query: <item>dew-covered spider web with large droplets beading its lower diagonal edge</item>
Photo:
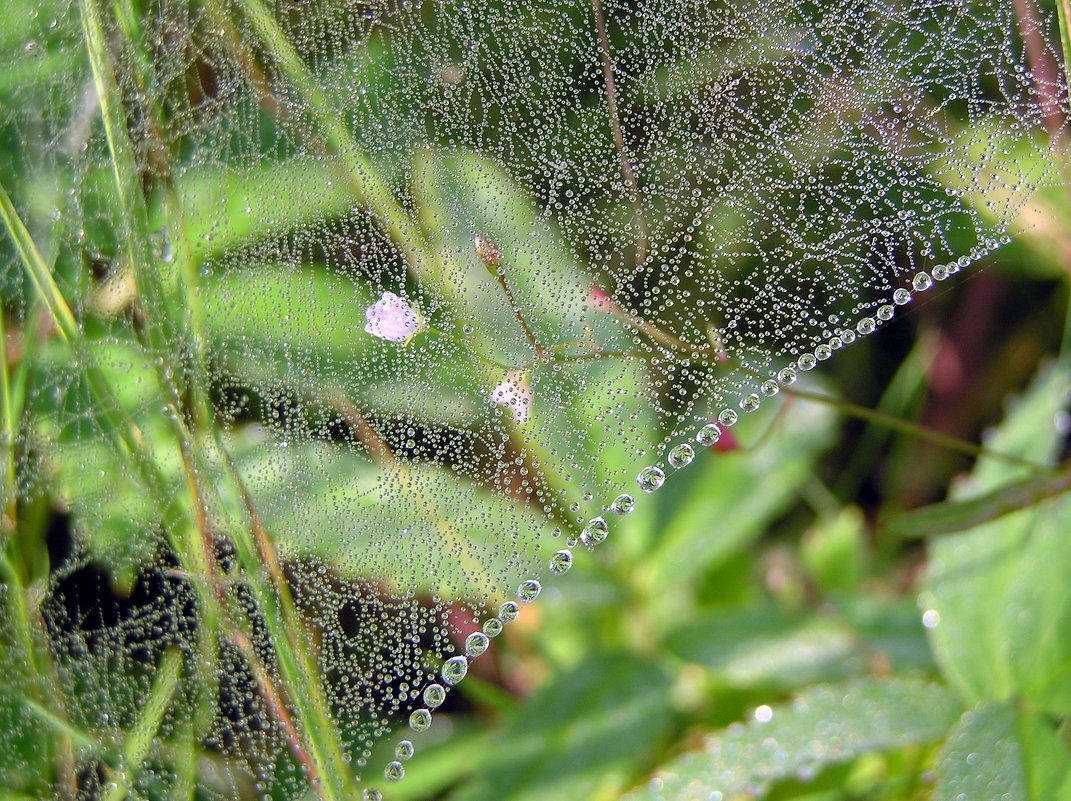
[[[13,0],[0,37],[16,795],[378,797],[541,581],[1061,181],[1031,0]]]

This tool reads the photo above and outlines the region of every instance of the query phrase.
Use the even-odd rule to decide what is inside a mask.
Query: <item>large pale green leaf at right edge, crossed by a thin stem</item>
[[[1059,435],[1052,423],[1067,403],[1068,374],[1051,366],[990,438],[994,450],[1050,460]],[[985,496],[1024,469],[980,459],[955,500]],[[938,665],[968,702],[1024,693],[1055,714],[1071,711],[1071,497],[931,541],[920,603],[932,610]]]

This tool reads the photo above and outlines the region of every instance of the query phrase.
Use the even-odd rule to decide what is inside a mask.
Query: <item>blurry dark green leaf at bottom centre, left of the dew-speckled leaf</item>
[[[577,665],[517,708],[452,801],[617,798],[668,735],[669,685],[661,667],[632,654]]]

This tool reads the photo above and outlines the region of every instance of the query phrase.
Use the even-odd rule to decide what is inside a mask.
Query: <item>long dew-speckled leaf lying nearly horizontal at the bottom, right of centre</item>
[[[702,751],[661,769],[631,801],[708,801],[765,795],[770,783],[870,751],[925,743],[945,735],[960,708],[944,687],[893,679],[811,687],[752,721],[710,736]],[[721,794],[715,795],[715,794]]]

